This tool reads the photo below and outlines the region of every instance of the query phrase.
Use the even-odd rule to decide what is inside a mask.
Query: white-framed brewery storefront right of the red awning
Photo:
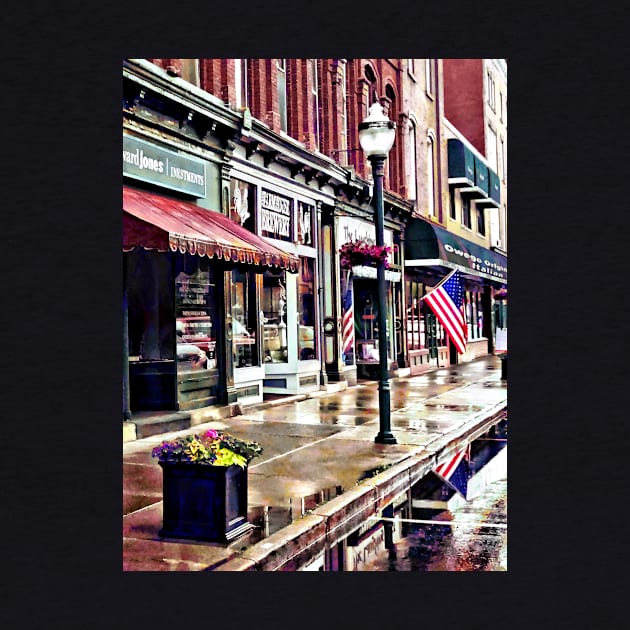
[[[298,261],[292,269],[271,269],[231,277],[233,322],[243,331],[235,357],[237,391],[296,394],[320,385],[321,342],[318,303],[316,206],[293,188],[261,181],[237,168],[230,178],[230,217]],[[249,335],[256,331],[260,351]]]

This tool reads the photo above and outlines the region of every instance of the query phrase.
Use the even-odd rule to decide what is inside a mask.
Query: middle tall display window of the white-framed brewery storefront
[[[263,356],[265,363],[286,363],[287,285],[286,272],[263,275]]]

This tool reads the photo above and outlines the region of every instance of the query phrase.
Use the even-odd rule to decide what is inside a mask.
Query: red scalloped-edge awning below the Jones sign
[[[188,252],[296,273],[300,261],[220,212],[123,186],[123,251]]]

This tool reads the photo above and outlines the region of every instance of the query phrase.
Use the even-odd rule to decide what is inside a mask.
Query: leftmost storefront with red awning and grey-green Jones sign
[[[232,357],[246,361],[241,348],[254,354],[261,339],[226,307],[230,277],[255,283],[268,270],[298,270],[297,257],[212,209],[219,173],[212,161],[123,135],[126,418],[226,403]]]

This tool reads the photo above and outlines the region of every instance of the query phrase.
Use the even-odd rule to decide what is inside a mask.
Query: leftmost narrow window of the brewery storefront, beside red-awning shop
[[[253,271],[232,271],[232,354],[234,367],[260,365],[256,274]]]

